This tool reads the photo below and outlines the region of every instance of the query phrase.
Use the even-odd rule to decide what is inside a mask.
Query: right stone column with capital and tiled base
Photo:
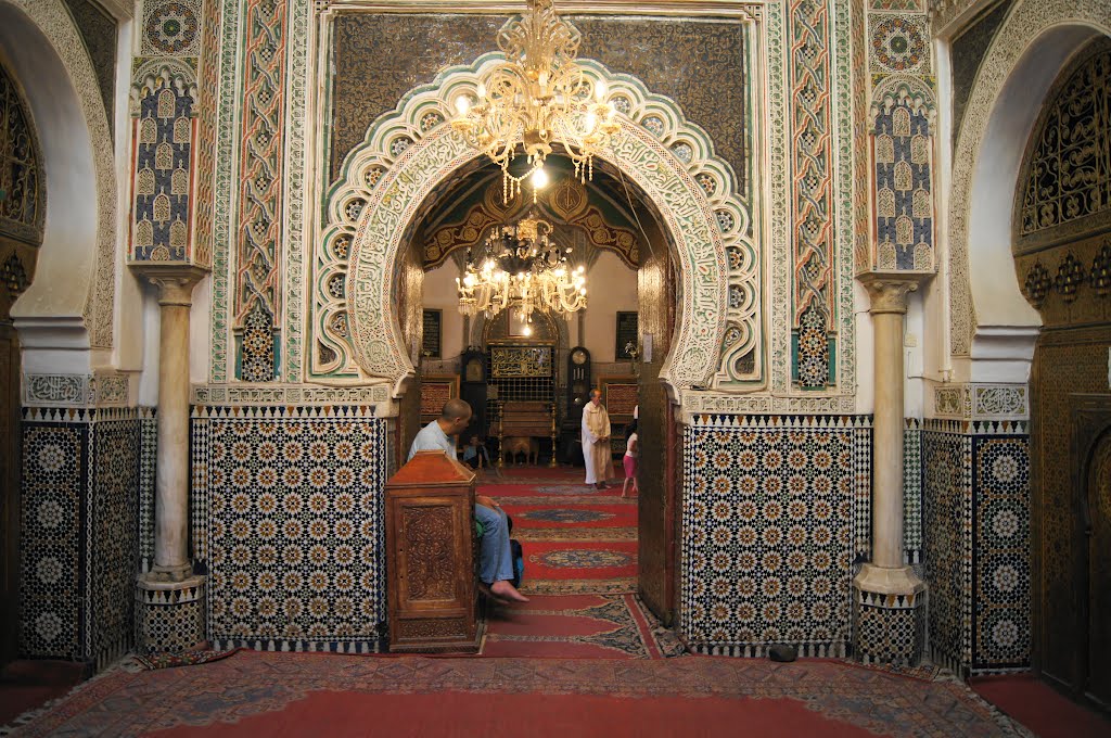
[[[925,582],[903,564],[903,316],[921,275],[864,275],[875,355],[872,561],[853,579],[853,644],[865,662],[915,665],[925,641]]]

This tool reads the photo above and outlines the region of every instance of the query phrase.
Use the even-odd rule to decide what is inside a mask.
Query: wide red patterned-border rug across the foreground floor
[[[116,670],[18,734],[83,736],[1014,736],[955,681],[835,661],[359,657],[241,651]]]

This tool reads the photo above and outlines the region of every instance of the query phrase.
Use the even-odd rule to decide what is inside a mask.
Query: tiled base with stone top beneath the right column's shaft
[[[852,580],[857,659],[918,666],[925,647],[925,582],[910,567],[865,564]]]

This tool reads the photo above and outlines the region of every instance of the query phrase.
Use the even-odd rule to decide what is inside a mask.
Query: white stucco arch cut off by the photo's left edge
[[[0,0],[0,18],[16,72],[36,81],[28,88],[28,101],[42,144],[48,192],[36,279],[12,316],[22,323],[21,333],[38,327],[40,319],[67,319],[67,326],[58,326],[66,337],[43,335],[48,342],[111,348],[114,146],[96,71],[61,0]],[[73,335],[76,323],[80,337]]]

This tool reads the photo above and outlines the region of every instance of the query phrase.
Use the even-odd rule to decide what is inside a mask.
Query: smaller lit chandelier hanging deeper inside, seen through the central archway
[[[583,268],[571,269],[567,252],[548,236],[552,227],[531,213],[514,223],[499,226],[478,253],[467,250],[467,267],[459,289],[459,311],[491,318],[513,310],[526,323],[533,310],[549,310],[570,318],[587,307]]]

